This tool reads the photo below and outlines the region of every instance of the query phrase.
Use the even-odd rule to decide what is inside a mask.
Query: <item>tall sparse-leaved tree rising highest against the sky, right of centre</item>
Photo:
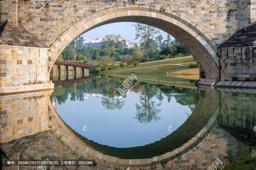
[[[157,30],[155,27],[152,27],[150,25],[146,25],[146,24],[140,24],[137,23],[135,25],[135,39],[140,39],[140,42],[143,42],[144,44],[144,55],[145,58],[148,58],[148,46],[151,43],[151,41],[153,40],[153,37],[160,33],[159,30]]]

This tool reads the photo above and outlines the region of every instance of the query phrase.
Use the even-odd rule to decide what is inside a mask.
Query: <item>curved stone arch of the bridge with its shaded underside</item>
[[[148,5],[122,5],[106,8],[71,25],[48,50],[48,73],[62,50],[73,40],[86,31],[113,22],[138,22],[166,31],[192,54],[199,66],[201,81],[219,80],[218,46],[207,33],[175,12]]]

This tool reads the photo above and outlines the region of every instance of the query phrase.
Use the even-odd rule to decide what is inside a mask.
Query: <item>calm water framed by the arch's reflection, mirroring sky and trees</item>
[[[199,100],[197,89],[143,82],[120,94],[116,89],[122,81],[103,76],[55,86],[51,101],[59,116],[80,135],[102,145],[127,148],[170,135],[187,120]],[[84,132],[85,125],[88,130]]]

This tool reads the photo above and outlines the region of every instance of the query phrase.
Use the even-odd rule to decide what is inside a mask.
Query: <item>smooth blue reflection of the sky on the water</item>
[[[177,94],[176,94],[177,95]],[[144,146],[159,141],[166,137],[187,119],[187,113],[191,113],[188,106],[182,106],[171,97],[168,103],[164,96],[158,122],[140,123],[135,119],[135,103],[141,105],[139,94],[131,93],[125,99],[125,105],[121,110],[104,109],[102,98],[88,97],[84,101],[71,101],[70,95],[63,105],[58,106],[58,114],[77,133],[94,142],[119,148]],[[153,97],[151,100],[160,101]],[[70,112],[74,115],[72,115]],[[177,122],[176,122],[177,121]],[[82,128],[87,124],[87,131]],[[168,131],[172,124],[173,130]],[[172,128],[171,128],[172,129]]]

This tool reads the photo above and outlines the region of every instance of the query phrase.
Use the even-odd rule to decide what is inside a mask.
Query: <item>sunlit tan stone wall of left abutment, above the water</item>
[[[47,50],[0,45],[0,87],[48,83]]]

